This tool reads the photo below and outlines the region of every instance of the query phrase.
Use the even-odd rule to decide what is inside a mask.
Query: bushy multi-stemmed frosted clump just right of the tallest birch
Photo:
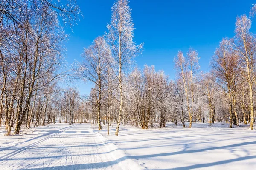
[[[142,129],[151,128],[157,122],[165,127],[169,111],[170,86],[163,71],[155,71],[154,66],[144,66],[143,71],[135,68],[130,74],[128,101],[130,111],[134,113],[136,125]]]

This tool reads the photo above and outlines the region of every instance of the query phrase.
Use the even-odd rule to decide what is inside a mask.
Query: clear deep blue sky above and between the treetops
[[[84,19],[73,27],[66,44],[67,62],[81,61],[84,47],[107,31],[114,0],[77,0]],[[249,14],[256,0],[130,0],[135,24],[135,41],[144,42],[143,54],[135,60],[140,68],[155,65],[171,79],[175,78],[173,58],[189,47],[198,51],[202,71],[222,37],[233,37],[236,16]],[[256,20],[256,19],[255,19]],[[255,21],[252,31],[255,33]],[[78,83],[81,94],[89,94],[89,83]]]

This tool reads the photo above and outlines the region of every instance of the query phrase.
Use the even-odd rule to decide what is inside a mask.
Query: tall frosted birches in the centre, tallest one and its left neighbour
[[[125,105],[124,88],[127,81],[127,71],[134,58],[143,48],[143,44],[136,45],[134,39],[134,23],[131,18],[131,9],[128,0],[117,0],[111,8],[111,23],[107,25],[108,33],[104,37],[98,37],[93,45],[84,50],[84,62],[79,65],[79,73],[82,79],[95,83],[92,95],[97,96],[97,116],[99,130],[101,127],[101,107],[103,90],[106,85],[108,91],[108,118],[109,98],[113,93],[113,87],[118,90],[119,110],[117,114],[116,136],[118,136],[119,125]],[[93,104],[92,104],[93,105]],[[108,125],[109,125],[108,121]],[[109,127],[109,126],[108,126]],[[108,128],[109,129],[109,128]]]

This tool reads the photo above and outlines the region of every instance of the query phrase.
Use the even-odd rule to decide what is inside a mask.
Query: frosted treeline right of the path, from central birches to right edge
[[[134,44],[128,1],[117,0],[111,8],[108,32],[84,50],[84,62],[78,68],[81,79],[95,84],[87,105],[97,115],[99,130],[102,122],[108,124],[108,130],[117,122],[117,136],[121,123],[148,129],[165,127],[169,121],[183,127],[189,122],[189,128],[193,122],[223,121],[230,128],[249,123],[253,129],[256,36],[250,28],[255,8],[250,17],[236,18],[235,36],[221,40],[208,73],[200,71],[200,57],[190,48],[175,56],[176,78],[169,80],[154,66],[128,71],[143,44]]]

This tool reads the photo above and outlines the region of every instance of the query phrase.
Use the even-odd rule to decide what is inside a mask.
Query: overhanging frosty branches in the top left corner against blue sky
[[[55,14],[63,20],[64,24],[74,24],[79,20],[81,14],[80,8],[76,0],[67,0],[64,3],[59,0],[3,0],[0,4],[1,17],[7,18],[17,26],[23,28],[23,22],[26,14],[33,14],[37,10],[50,8]],[[33,7],[30,8],[29,7]],[[26,10],[29,9],[29,10]],[[2,22],[3,20],[0,20]]]

